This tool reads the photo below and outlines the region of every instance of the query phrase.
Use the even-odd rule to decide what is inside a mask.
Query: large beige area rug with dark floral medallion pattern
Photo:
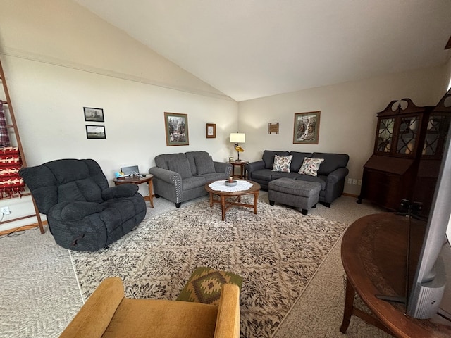
[[[222,222],[220,206],[202,201],[147,220],[109,249],[70,253],[85,298],[110,276],[122,278],[128,297],[175,300],[198,266],[236,273],[241,337],[261,338],[276,331],[346,227],[262,201],[257,215],[234,207]]]

